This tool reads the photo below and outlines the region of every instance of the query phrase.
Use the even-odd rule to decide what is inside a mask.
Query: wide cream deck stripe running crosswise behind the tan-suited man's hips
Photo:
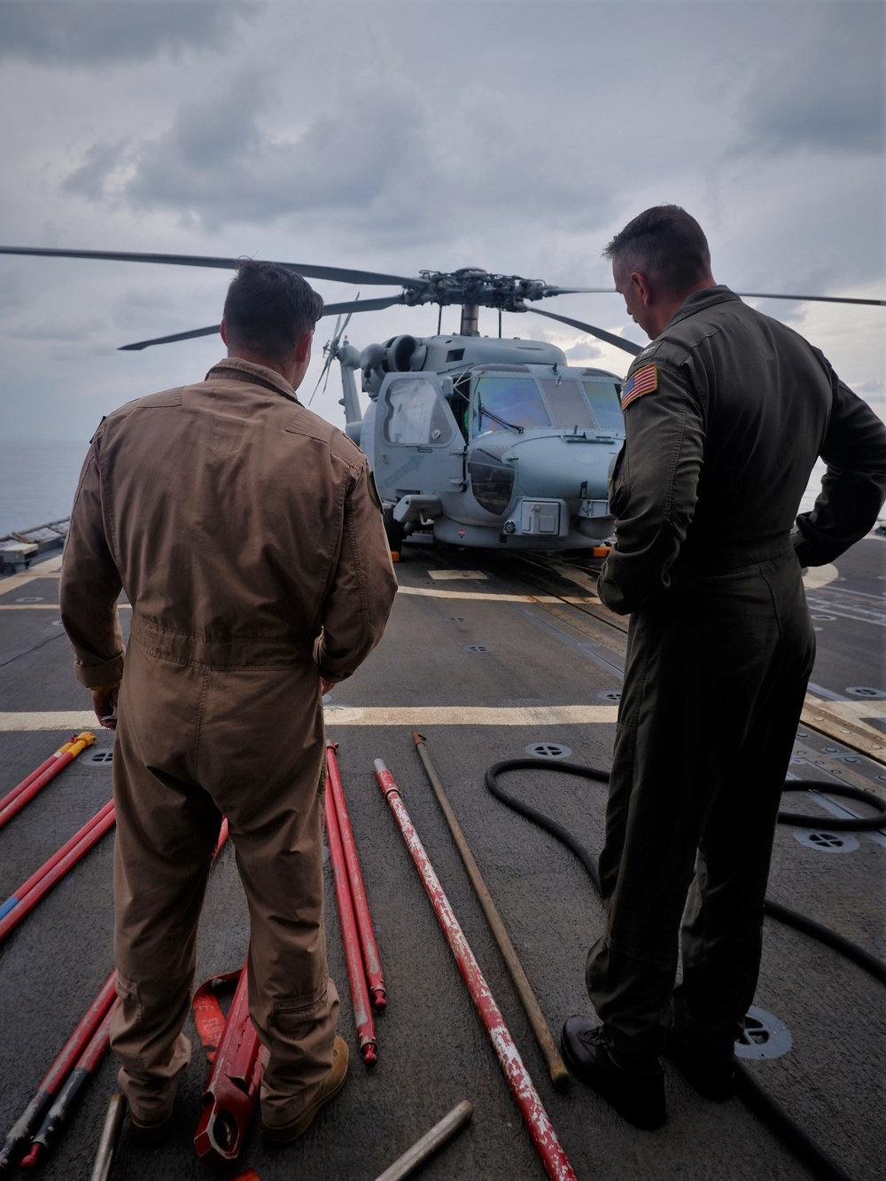
[[[323,710],[328,726],[569,726],[615,725],[617,705],[533,705],[521,707],[474,705],[357,706]],[[45,713],[0,713],[0,731],[84,730],[96,725],[91,710],[52,710]]]

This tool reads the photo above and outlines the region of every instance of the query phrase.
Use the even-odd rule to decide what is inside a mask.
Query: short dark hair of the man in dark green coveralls
[[[650,275],[671,294],[681,294],[710,275],[704,230],[680,205],[644,209],[616,234],[603,257]]]

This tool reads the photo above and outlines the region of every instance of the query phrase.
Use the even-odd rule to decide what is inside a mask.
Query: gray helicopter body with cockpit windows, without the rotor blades
[[[544,341],[474,335],[394,337],[361,354],[346,344],[337,357],[347,431],[394,531],[540,550],[612,533],[608,482],[624,441],[615,373],[571,367]]]

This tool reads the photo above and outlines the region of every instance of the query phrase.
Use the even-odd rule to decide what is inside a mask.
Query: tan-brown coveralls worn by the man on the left
[[[123,676],[111,1038],[143,1122],[169,1113],[190,1057],[182,1027],[222,816],[249,903],[264,1122],[295,1118],[332,1068],[320,676],[356,670],[395,590],[366,457],[274,370],[229,358],[99,426],[61,616],[81,684]]]

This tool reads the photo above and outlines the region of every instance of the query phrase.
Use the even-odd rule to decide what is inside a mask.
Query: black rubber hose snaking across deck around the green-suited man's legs
[[[514,811],[518,811],[521,816],[525,816],[534,824],[544,828],[545,831],[556,836],[558,841],[575,853],[584,868],[588,870],[588,875],[599,894],[600,882],[597,862],[588,849],[585,849],[585,847],[567,829],[565,829],[562,824],[558,824],[557,821],[551,820],[550,816],[545,816],[544,813],[540,813],[534,808],[530,808],[529,804],[524,804],[514,796],[508,795],[498,784],[499,775],[504,775],[506,771],[530,770],[560,771],[564,775],[576,775],[579,778],[595,779],[598,783],[608,783],[609,772],[599,771],[593,766],[583,766],[579,763],[552,763],[545,758],[512,758],[501,763],[495,763],[494,766],[491,766],[486,771],[485,776],[486,787],[497,800],[500,800],[501,803],[506,804],[508,808],[512,808]],[[801,791],[809,788],[826,789],[831,795],[849,796],[853,800],[862,800],[865,803],[869,803],[878,809],[878,815],[867,816],[860,820],[854,820],[852,817],[839,821],[828,820],[828,829],[872,829],[880,828],[884,824],[886,804],[884,804],[881,800],[872,795],[869,791],[862,791],[860,788],[851,788],[846,784],[827,783],[823,779],[792,779],[785,784],[786,791]],[[795,815],[793,813],[779,813],[780,824],[801,824],[805,828],[810,828],[812,824],[809,822],[812,820],[813,817],[810,816]],[[780,922],[785,922],[788,926],[795,927],[798,931],[802,931],[805,934],[818,939],[820,942],[845,955],[859,967],[869,972],[878,980],[886,984],[886,964],[878,960],[874,955],[871,955],[871,953],[866,952],[862,947],[859,947],[858,944],[853,944],[842,935],[838,935],[836,932],[831,931],[829,927],[825,927],[820,922],[815,922],[813,919],[807,919],[796,911],[790,911],[780,902],[773,902],[769,899],[766,899],[764,911],[768,915]],[[796,1123],[796,1121],[793,1120],[787,1111],[785,1111],[785,1109],[775,1102],[772,1095],[769,1095],[768,1091],[760,1085],[753,1072],[748,1070],[747,1066],[736,1061],[735,1068],[736,1090],[748,1107],[772,1124],[777,1130],[785,1143],[792,1148],[796,1155],[806,1164],[808,1164],[819,1177],[822,1179],[822,1181],[852,1181],[849,1174],[846,1173],[834,1160],[832,1160],[832,1157],[828,1156],[828,1154],[806,1134],[800,1124]]]

